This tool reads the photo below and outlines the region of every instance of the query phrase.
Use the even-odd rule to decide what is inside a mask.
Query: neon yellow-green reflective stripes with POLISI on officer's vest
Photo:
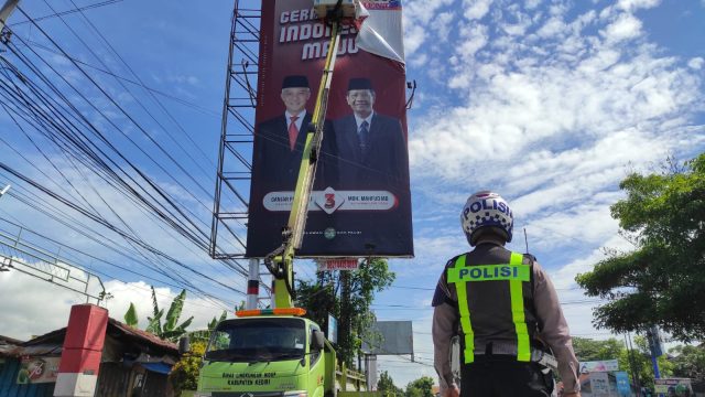
[[[475,333],[470,321],[470,308],[467,301],[468,282],[474,281],[509,281],[511,294],[511,319],[517,332],[517,361],[531,361],[529,331],[524,318],[524,297],[522,282],[531,280],[531,267],[523,265],[523,255],[511,253],[509,264],[465,266],[465,255],[455,260],[455,266],[447,270],[448,282],[455,283],[458,293],[460,326],[465,334],[465,364],[475,362]]]

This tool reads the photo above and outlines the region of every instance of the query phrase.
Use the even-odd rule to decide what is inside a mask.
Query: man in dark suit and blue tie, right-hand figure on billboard
[[[409,189],[409,153],[401,122],[375,111],[368,78],[351,78],[346,96],[352,115],[334,121],[339,182],[346,190]]]

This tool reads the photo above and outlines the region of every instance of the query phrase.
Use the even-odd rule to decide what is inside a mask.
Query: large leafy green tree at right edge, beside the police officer
[[[594,323],[615,332],[643,332],[658,324],[675,340],[705,334],[705,153],[683,167],[632,173],[614,204],[622,235],[636,249],[612,251],[576,277],[590,297],[608,302]]]

